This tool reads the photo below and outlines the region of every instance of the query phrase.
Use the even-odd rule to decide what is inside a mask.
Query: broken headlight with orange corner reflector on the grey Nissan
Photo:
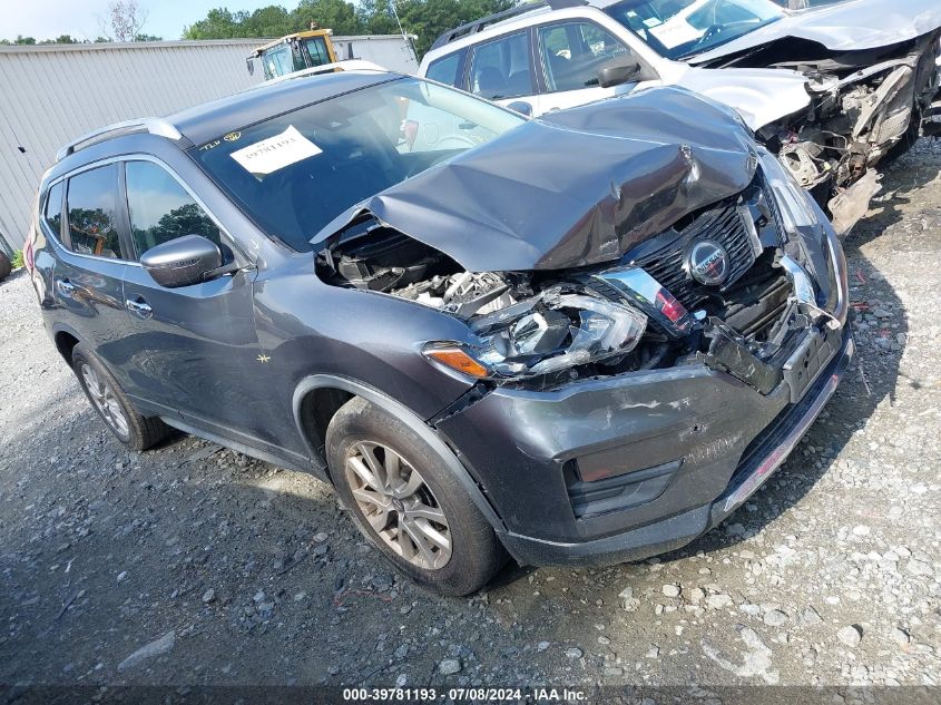
[[[472,344],[434,342],[424,354],[478,378],[548,374],[629,353],[647,327],[636,309],[559,288],[471,319]]]

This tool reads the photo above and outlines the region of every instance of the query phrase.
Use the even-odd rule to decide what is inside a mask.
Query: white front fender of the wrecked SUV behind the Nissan
[[[689,67],[674,82],[732,106],[753,130],[797,112],[811,102],[807,79],[797,71]]]

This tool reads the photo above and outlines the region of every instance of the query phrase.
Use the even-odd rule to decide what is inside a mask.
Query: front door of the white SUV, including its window
[[[539,115],[624,95],[639,82],[638,78],[601,88],[599,69],[637,59],[620,39],[595,22],[568,20],[539,26],[536,45],[545,79],[543,92],[533,106]]]

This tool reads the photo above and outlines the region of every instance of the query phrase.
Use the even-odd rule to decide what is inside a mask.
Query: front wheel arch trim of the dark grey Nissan
[[[451,471],[468,495],[470,495],[473,503],[480,509],[490,526],[498,533],[507,530],[502,519],[487,500],[480,486],[471,477],[454,451],[451,450],[434,429],[430,428],[411,409],[384,392],[356,380],[334,374],[313,374],[301,380],[294,390],[294,422],[297,425],[297,432],[304,439],[304,442],[307,443],[313,457],[323,462],[327,476],[330,474],[330,468],[321,451],[326,427],[336,411],[340,410],[340,407],[354,396],[365,399],[408,424],[419,438],[428,443],[444,460],[448,470]],[[325,408],[318,410],[318,402],[324,403]]]

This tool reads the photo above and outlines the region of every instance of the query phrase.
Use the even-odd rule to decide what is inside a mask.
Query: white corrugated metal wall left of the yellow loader
[[[65,143],[109,123],[161,116],[261,80],[257,39],[0,47],[0,242],[19,248],[36,188]]]

